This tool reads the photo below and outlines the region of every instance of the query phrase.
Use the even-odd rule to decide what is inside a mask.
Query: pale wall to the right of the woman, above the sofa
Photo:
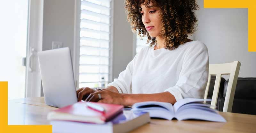
[[[200,10],[194,36],[207,46],[210,64],[238,60],[239,77],[256,77],[256,52],[248,52],[248,9],[209,9],[203,0],[197,2]]]

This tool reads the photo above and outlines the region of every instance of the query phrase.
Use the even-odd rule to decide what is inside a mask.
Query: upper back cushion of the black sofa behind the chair
[[[226,96],[228,81],[224,83],[224,96]],[[236,92],[234,99],[256,99],[256,78],[240,78],[237,79]]]

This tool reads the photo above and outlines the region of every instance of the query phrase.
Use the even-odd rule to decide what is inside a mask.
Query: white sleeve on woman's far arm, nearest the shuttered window
[[[117,79],[109,83],[108,86],[115,87],[119,93],[132,93],[132,73],[134,70],[136,56],[130,61],[126,69],[121,72]]]

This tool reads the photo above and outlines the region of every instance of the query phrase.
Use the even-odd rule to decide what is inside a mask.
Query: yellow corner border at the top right
[[[256,52],[254,33],[256,32],[256,0],[204,0],[204,8],[248,8],[248,51]],[[247,45],[247,44],[241,44]]]

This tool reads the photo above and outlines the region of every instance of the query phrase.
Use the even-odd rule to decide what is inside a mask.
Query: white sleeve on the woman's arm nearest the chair
[[[208,80],[209,57],[202,43],[185,54],[179,79],[175,86],[167,88],[176,101],[183,98],[203,98]]]

